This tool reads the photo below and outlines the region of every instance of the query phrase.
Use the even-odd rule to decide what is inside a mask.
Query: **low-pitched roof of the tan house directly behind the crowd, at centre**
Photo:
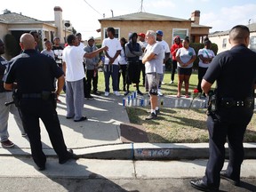
[[[134,12],[131,14],[120,15],[116,17],[100,19],[101,20],[172,20],[172,21],[189,21],[164,15],[152,14],[148,12]]]

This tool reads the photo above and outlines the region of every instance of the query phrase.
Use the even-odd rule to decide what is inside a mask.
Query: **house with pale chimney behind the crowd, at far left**
[[[16,12],[6,12],[0,14],[0,38],[4,40],[4,36],[12,35],[17,44],[20,42],[20,36],[29,31],[37,31],[41,37],[41,44],[44,38],[53,41],[54,36],[60,37],[60,44],[65,43],[65,36],[72,34],[73,26],[69,20],[62,19],[62,9],[60,6],[55,6],[54,20],[44,21],[30,18]],[[65,23],[70,24],[67,28]]]

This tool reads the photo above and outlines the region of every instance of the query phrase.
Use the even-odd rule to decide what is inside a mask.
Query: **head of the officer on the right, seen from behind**
[[[247,44],[250,37],[250,30],[244,25],[237,25],[229,31],[229,41],[231,44]]]

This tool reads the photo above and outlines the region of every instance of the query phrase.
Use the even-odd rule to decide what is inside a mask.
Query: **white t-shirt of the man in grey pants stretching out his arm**
[[[66,62],[66,81],[74,82],[85,77],[84,74],[84,49],[79,46],[68,45],[63,50],[62,60]]]

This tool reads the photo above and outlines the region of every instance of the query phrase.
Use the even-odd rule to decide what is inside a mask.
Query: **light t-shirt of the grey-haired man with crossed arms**
[[[147,57],[152,52],[157,56],[156,59],[149,60],[145,63],[145,73],[163,73],[163,50],[160,44],[148,44],[145,50],[144,57]]]

